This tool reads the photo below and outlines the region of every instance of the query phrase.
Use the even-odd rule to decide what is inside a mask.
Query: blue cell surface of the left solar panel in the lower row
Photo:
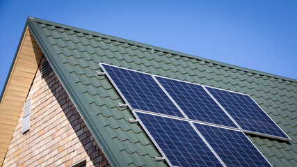
[[[222,166],[188,121],[136,115],[173,166]]]

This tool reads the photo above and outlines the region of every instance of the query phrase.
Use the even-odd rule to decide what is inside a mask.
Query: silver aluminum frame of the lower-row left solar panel
[[[147,128],[145,127],[145,125],[143,124],[143,122],[141,122],[141,119],[138,118],[136,112],[139,112],[139,113],[146,113],[146,114],[151,114],[151,115],[154,115],[154,116],[160,116],[159,114],[156,114],[156,113],[152,113],[152,112],[143,112],[143,111],[132,111],[133,115],[136,117],[136,119],[138,120],[139,124],[141,125],[141,127],[143,127],[143,129],[145,130],[145,133],[147,134],[147,136],[150,137],[152,143],[154,143],[154,145],[156,146],[156,148],[159,150],[159,152],[161,153],[161,155],[163,157],[165,157],[166,159],[166,162],[168,163],[168,165],[170,167],[175,167],[175,166],[172,166],[172,164],[170,163],[169,159],[166,157],[166,154],[164,154],[164,152],[162,151],[162,149],[159,147],[158,143],[156,143],[156,141],[154,140],[154,137],[150,134],[150,132],[147,130]],[[216,154],[216,152],[214,151],[213,148],[211,148],[211,146],[209,145],[209,143],[205,140],[205,138],[202,136],[202,134],[200,134],[200,132],[198,131],[198,129],[195,127],[195,125],[193,125],[193,123],[188,120],[188,119],[181,119],[181,118],[174,118],[172,116],[168,116],[168,115],[165,115],[163,117],[166,117],[166,118],[172,118],[172,119],[177,119],[177,120],[184,120],[184,121],[188,121],[190,123],[190,125],[193,127],[193,129],[195,130],[195,132],[200,136],[200,138],[202,138],[202,141],[204,141],[204,143],[207,145],[207,147],[209,148],[209,150],[211,150],[211,152],[215,155],[215,157],[218,159],[218,161],[220,161],[220,164],[222,164],[223,166],[226,167],[226,165],[224,164],[224,162],[222,161],[222,159],[220,159],[220,157],[218,157],[218,154]]]

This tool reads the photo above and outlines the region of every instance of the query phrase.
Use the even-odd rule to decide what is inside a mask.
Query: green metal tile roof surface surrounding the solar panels
[[[28,26],[111,166],[167,166],[99,62],[246,93],[290,142],[248,136],[273,166],[296,166],[297,80],[29,17]],[[154,49],[152,54],[152,48]]]

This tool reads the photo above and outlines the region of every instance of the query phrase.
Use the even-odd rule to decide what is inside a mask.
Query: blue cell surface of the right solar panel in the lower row
[[[243,132],[194,125],[226,166],[271,166]]]

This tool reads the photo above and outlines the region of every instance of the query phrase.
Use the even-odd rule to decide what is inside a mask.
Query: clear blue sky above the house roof
[[[28,16],[297,79],[296,0],[0,0],[0,89]]]

